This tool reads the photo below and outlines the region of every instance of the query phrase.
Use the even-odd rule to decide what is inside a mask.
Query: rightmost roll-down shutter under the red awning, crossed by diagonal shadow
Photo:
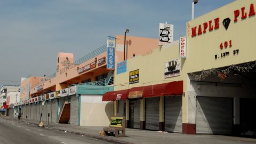
[[[165,97],[165,131],[182,132],[182,97]]]

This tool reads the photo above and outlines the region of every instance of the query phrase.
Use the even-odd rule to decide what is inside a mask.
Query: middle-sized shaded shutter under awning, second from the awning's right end
[[[146,129],[159,130],[160,97],[146,98]]]

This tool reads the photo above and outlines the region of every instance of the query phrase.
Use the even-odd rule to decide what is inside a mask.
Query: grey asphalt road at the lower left
[[[33,124],[20,123],[0,116],[0,144],[76,144],[76,143],[109,143],[73,133],[38,127]]]

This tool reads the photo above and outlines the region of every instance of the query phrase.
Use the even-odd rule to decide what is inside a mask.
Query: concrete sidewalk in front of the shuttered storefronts
[[[26,119],[17,121],[26,122]],[[39,121],[29,120],[28,123],[38,125]],[[138,129],[126,129],[126,137],[115,138],[99,135],[99,131],[103,130],[102,126],[76,126],[50,122],[49,125],[47,125],[47,122],[43,123],[45,127],[49,127],[51,129],[67,131],[115,143],[256,143],[256,139],[250,138],[210,134],[189,135],[181,133],[158,133],[156,131]]]

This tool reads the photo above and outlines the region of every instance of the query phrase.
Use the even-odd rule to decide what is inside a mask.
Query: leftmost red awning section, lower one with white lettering
[[[106,92],[102,101],[125,100],[128,97],[128,90]]]

